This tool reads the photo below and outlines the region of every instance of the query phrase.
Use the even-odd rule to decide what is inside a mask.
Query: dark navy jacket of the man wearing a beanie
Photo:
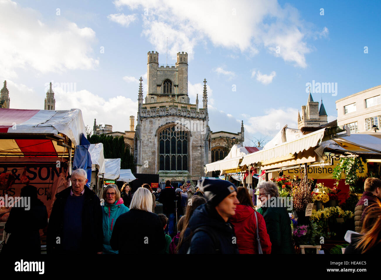
[[[191,239],[189,245],[189,253],[191,254],[215,254],[216,247],[218,246],[222,254],[239,254],[238,246],[232,242],[235,239],[235,233],[233,225],[224,219],[217,213],[214,207],[211,207],[207,203],[197,207],[187,227],[186,236],[189,236],[191,232],[194,232],[199,227],[208,227],[208,229],[214,233],[218,239],[219,246],[213,243],[213,237],[211,237],[205,231],[196,232]],[[187,244],[181,245],[179,253],[187,253]]]

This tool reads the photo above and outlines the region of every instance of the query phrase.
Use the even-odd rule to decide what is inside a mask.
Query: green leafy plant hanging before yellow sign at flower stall
[[[341,175],[345,174],[345,183],[349,185],[352,193],[359,191],[357,171],[363,173],[364,165],[358,157],[343,158],[341,162],[333,169],[332,178],[336,180],[336,186],[339,184]],[[362,191],[360,191],[362,193]]]

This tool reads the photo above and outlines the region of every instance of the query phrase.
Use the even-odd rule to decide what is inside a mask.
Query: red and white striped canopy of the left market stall
[[[0,109],[1,155],[62,155],[67,148],[58,141],[69,138],[72,146],[79,145],[82,133],[85,123],[79,109]]]

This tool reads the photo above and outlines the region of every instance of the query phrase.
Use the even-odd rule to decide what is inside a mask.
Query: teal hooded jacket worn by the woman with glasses
[[[104,203],[103,206],[103,253],[105,254],[117,254],[118,251],[112,250],[110,246],[110,239],[112,234],[112,228],[117,218],[128,212],[130,209],[123,204],[123,199],[120,198],[113,204]]]

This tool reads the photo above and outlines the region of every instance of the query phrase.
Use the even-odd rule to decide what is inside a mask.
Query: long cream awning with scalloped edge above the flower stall
[[[325,128],[309,133],[301,138],[284,142],[270,149],[263,149],[255,153],[243,156],[240,166],[258,163],[269,164],[270,162],[282,161],[293,158],[293,155],[319,145],[324,137]]]

